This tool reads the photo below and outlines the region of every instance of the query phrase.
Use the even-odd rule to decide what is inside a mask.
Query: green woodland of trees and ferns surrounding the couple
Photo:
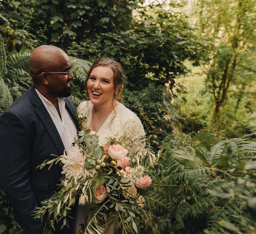
[[[163,147],[147,191],[154,232],[254,233],[255,25],[249,0],[0,0],[0,114],[31,87],[39,45],[70,56],[76,106],[90,64],[113,58],[127,77],[124,105],[152,135],[149,147]],[[0,233],[21,233],[1,194]]]

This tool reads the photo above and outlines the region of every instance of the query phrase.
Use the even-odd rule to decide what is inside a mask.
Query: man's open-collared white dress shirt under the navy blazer
[[[53,106],[52,102],[40,94],[37,89],[35,89],[35,91],[37,92],[39,98],[41,99],[42,103],[44,103],[45,108],[50,114],[52,121],[54,122],[54,125],[60,134],[60,138],[65,149],[69,149],[71,144],[74,142],[74,138],[77,139],[78,135],[76,125],[74,124],[73,119],[65,108],[65,98],[57,98],[60,109],[60,118],[57,109]]]

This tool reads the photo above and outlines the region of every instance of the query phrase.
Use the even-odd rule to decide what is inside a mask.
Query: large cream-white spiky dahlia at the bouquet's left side
[[[60,160],[64,164],[61,174],[65,174],[67,179],[71,176],[74,176],[76,179],[89,175],[93,177],[93,174],[96,173],[94,168],[84,168],[86,156],[80,152],[80,148],[77,144],[71,146],[66,152],[64,151],[64,155],[61,155]]]

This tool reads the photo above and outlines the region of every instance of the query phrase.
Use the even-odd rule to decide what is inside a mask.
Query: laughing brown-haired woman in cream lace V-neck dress
[[[138,116],[121,103],[124,78],[120,63],[109,58],[96,60],[88,71],[86,84],[90,101],[81,102],[77,110],[87,118],[84,128],[99,135],[100,146],[107,143],[108,137],[123,135],[124,132],[130,133],[132,141],[136,140],[136,136],[145,135]],[[144,146],[136,148],[135,143],[135,148],[139,147]],[[75,234],[78,234],[84,217],[84,207],[79,206]]]

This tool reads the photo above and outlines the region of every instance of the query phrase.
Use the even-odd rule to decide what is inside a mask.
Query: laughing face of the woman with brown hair
[[[87,90],[93,105],[112,103],[114,96],[114,73],[110,67],[92,69],[87,81]]]

